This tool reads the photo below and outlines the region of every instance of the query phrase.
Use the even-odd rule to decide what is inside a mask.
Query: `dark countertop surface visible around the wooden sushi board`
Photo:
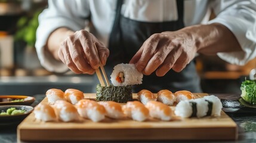
[[[229,100],[237,100],[240,95],[238,94],[214,94],[219,98],[226,98]],[[45,97],[45,95],[35,95],[36,101],[33,102],[32,106],[39,104]],[[223,108],[223,110],[237,123],[238,125],[238,140],[237,141],[215,141],[215,142],[256,142],[256,110],[238,110],[231,108]],[[0,142],[17,142],[17,125],[1,125],[0,123]],[[159,141],[158,141],[159,142]],[[179,141],[188,142],[188,141]],[[195,142],[195,141],[194,141]],[[199,142],[199,141],[196,141]],[[206,142],[206,141],[200,141]],[[213,141],[207,141],[213,142]]]

